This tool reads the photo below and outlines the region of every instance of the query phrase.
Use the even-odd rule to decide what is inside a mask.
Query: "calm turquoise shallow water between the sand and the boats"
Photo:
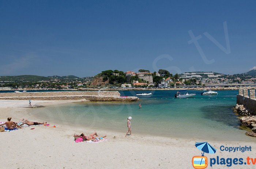
[[[149,91],[120,91],[121,96],[136,96]],[[174,98],[177,91],[150,91],[138,102],[90,102],[54,105],[31,109],[31,114],[58,123],[126,132],[127,118],[132,116],[132,132],[178,138],[218,141],[256,141],[240,130],[232,112],[238,91],[218,91],[219,95]],[[142,104],[142,108],[138,104]]]

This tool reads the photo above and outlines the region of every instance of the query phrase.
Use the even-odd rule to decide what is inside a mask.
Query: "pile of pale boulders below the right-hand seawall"
[[[256,116],[254,113],[248,112],[244,105],[238,104],[233,108],[233,112],[244,116],[240,118],[241,126],[245,126],[251,129],[251,131],[246,131],[245,134],[251,137],[256,137]]]

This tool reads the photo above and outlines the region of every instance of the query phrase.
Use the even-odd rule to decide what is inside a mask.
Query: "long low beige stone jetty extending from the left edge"
[[[24,92],[0,93],[0,100],[80,100],[88,101],[137,101],[138,97],[120,97],[118,91],[102,92]]]

